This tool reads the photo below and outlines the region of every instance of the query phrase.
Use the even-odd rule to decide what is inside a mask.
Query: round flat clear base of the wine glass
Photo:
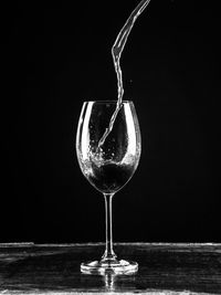
[[[83,262],[81,264],[81,272],[86,274],[133,274],[138,271],[137,262],[125,260],[101,260]]]

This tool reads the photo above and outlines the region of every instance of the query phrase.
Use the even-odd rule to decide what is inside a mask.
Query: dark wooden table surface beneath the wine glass
[[[0,294],[221,294],[221,244],[117,243],[120,259],[139,263],[136,274],[80,272],[103,252],[102,243],[0,244]]]

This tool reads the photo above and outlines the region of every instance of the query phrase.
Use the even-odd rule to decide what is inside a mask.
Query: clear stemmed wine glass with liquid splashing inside
[[[116,115],[114,120],[113,114]],[[113,126],[107,133],[110,122]],[[105,140],[101,140],[105,133]],[[83,273],[128,274],[138,270],[136,262],[118,260],[113,251],[112,199],[134,175],[140,151],[139,124],[131,101],[123,101],[120,105],[116,101],[84,102],[77,126],[76,155],[83,175],[104,194],[106,250],[101,261],[82,263]]]

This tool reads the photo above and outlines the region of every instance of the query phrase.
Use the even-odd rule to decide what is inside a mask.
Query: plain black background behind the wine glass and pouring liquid
[[[110,48],[136,0],[1,9],[0,242],[104,241],[83,177],[84,101],[116,99]],[[214,1],[151,0],[122,56],[143,154],[114,198],[115,241],[220,242],[220,15]]]

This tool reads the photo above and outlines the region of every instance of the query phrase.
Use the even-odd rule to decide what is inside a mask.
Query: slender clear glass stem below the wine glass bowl
[[[106,218],[106,250],[102,260],[115,260],[116,254],[113,251],[112,234],[112,198],[114,193],[104,193],[105,199],[105,218]]]

